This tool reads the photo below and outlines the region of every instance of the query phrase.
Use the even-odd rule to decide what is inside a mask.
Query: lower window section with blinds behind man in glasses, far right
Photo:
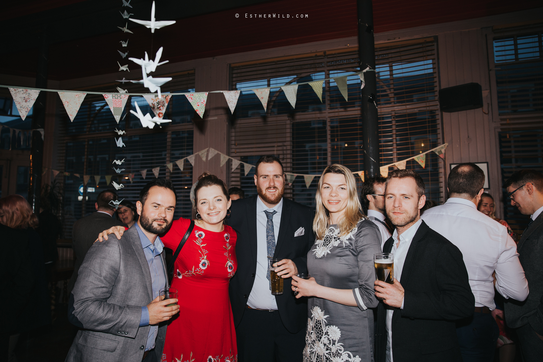
[[[543,129],[503,131],[500,140],[500,163],[502,185],[509,177],[521,169],[535,169],[543,172]],[[523,215],[512,206],[503,189],[504,215],[514,232],[522,233],[528,226],[529,215]]]

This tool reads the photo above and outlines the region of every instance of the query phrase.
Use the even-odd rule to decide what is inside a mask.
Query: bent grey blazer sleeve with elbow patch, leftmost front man
[[[96,332],[134,338],[140,326],[142,306],[119,306],[108,303],[119,274],[121,250],[116,238],[95,243],[79,269],[70,299],[70,321]],[[126,293],[130,293],[127,290]]]

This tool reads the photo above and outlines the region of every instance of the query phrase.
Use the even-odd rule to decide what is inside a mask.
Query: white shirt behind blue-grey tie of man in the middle
[[[271,294],[270,282],[266,277],[268,275],[268,244],[266,242],[268,218],[264,211],[277,211],[273,215],[273,232],[275,234],[275,245],[277,245],[282,210],[283,199],[273,208],[268,208],[268,206],[264,205],[260,196],[256,198],[256,274],[255,283],[252,284],[251,294],[249,294],[247,300],[247,305],[251,308],[277,310],[275,295]],[[288,289],[288,285],[286,288]]]

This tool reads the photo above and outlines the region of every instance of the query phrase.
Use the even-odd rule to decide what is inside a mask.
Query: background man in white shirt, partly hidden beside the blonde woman
[[[368,209],[368,217],[381,232],[381,250],[384,243],[392,236],[385,221],[387,216],[384,209],[384,183],[386,181],[385,177],[370,177],[362,186],[362,201]]]

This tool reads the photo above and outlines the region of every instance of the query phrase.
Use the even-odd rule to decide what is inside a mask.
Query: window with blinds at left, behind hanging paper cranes
[[[175,74],[164,74],[173,80],[162,87],[162,93],[194,91],[194,71]],[[115,86],[102,85],[93,91],[105,92]],[[125,84],[129,92],[146,92],[141,85]],[[112,181],[122,183],[124,188],[117,191],[119,200],[126,199],[135,204],[140,190],[149,180],[154,179],[152,168],[161,166],[159,177],[173,181],[178,194],[175,218],[190,217],[192,205],[190,190],[192,186],[192,166],[185,162],[181,171],[175,164],[171,172],[166,163],[175,162],[193,153],[194,110],[185,97],[172,97],[168,103],[164,119],[172,119],[171,123],[156,125],[153,129],[142,128],[140,120],[131,115],[130,109],[137,102],[143,114],[153,114],[147,100],[140,96],[130,96],[123,116],[117,124],[115,118],[100,94],[87,94],[81,104],[77,116],[70,122],[64,106],[59,102],[57,109],[62,120],[61,142],[59,143],[60,167],[70,176],[64,176],[64,237],[71,238],[73,221],[95,211],[94,203],[97,195],[104,189],[114,189],[106,185],[103,175],[112,175]],[[115,143],[118,138],[113,130],[125,130],[122,135],[126,147],[119,148]],[[118,166],[113,160],[123,160]],[[124,169],[117,174],[113,167]],[[147,169],[143,179],[140,170]],[[79,174],[81,177],[73,176]],[[130,173],[134,174],[132,181]],[[83,175],[91,175],[86,187],[83,186]],[[102,175],[98,182],[94,175]],[[59,175],[58,178],[61,176]]]

